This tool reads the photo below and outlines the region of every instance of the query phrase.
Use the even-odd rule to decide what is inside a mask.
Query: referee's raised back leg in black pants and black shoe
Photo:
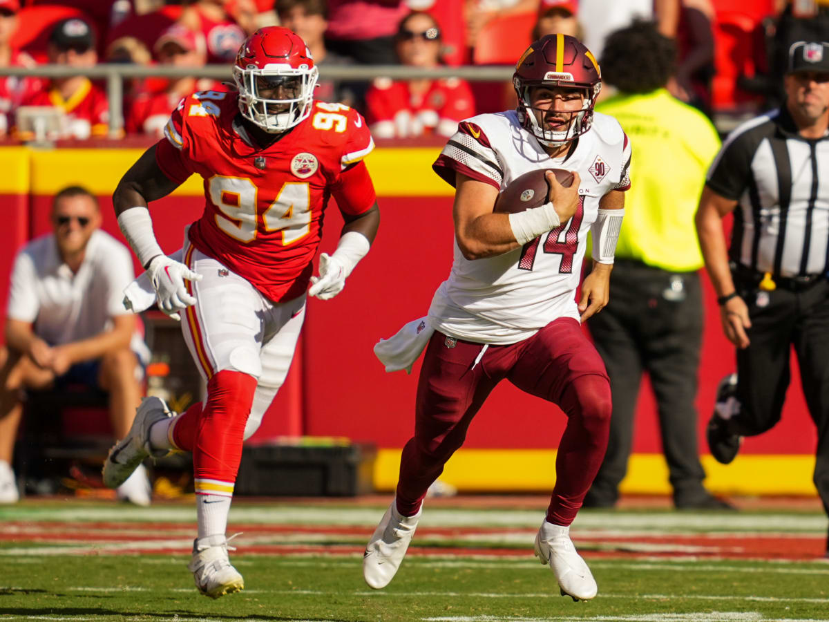
[[[739,281],[738,281],[739,283]],[[750,344],[737,350],[737,379],[720,383],[714,414],[705,435],[711,455],[729,464],[739,451],[740,437],[771,430],[780,420],[791,379],[789,357],[797,321],[797,294],[739,288],[749,305]]]

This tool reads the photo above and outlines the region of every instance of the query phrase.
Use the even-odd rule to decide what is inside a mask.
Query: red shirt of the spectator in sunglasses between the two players
[[[472,89],[457,78],[434,80],[423,95],[414,95],[405,80],[378,78],[366,93],[366,117],[377,138],[451,136],[474,114]]]

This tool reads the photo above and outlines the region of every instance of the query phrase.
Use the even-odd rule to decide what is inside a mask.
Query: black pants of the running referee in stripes
[[[814,483],[829,513],[829,282],[807,287],[761,291],[759,279],[734,274],[739,294],[749,305],[751,344],[737,351],[739,415],[730,430],[759,435],[780,420],[791,380],[791,348],[797,354],[803,395],[817,425]]]

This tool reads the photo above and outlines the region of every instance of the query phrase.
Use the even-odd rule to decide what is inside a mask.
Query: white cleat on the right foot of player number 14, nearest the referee
[[[562,596],[590,600],[599,591],[593,574],[570,541],[570,527],[542,522],[536,535],[536,557],[550,566]]]

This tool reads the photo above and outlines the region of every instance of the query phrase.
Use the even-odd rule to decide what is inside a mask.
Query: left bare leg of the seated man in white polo
[[[12,454],[23,413],[22,388],[43,389],[54,380],[52,372],[37,367],[29,357],[0,347],[0,503],[16,503],[19,498]]]

